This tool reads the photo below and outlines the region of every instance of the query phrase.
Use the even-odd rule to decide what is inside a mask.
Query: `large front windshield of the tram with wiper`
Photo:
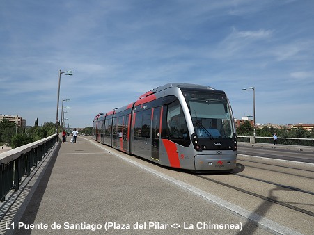
[[[184,93],[198,138],[233,138],[232,116],[225,94]]]

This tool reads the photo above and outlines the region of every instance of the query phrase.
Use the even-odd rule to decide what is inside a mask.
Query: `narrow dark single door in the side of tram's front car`
[[[159,160],[159,129],[160,129],[160,109],[154,108],[152,111],[152,159]]]

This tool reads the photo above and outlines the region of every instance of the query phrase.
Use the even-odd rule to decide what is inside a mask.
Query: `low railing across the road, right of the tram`
[[[280,138],[278,137],[278,144],[280,145],[301,145],[314,146],[314,138]],[[246,143],[271,143],[274,144],[274,138],[261,136],[237,136],[237,142]]]

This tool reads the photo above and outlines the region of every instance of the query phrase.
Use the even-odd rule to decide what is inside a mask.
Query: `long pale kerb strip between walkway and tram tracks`
[[[88,140],[88,139],[86,139]],[[133,161],[132,159],[128,159],[127,157],[112,152],[113,149],[111,149],[110,147],[107,147],[106,145],[100,145],[99,143],[95,142],[95,140],[88,140],[91,143],[93,143],[94,145],[96,145],[97,147],[100,147],[104,150],[106,150],[107,152],[109,152],[110,154],[113,154],[115,156],[118,156],[120,159],[123,159],[129,163],[132,163],[134,165],[136,165],[139,168],[142,168],[143,170],[147,170],[148,172],[157,175],[158,177],[162,178],[162,179],[166,179],[167,181],[170,181],[171,183],[180,186],[181,188],[185,188],[187,191],[190,191],[191,193],[194,193],[200,197],[202,197],[203,199],[207,200],[208,202],[212,202],[214,204],[216,204],[217,206],[219,206],[222,209],[225,209],[231,213],[233,213],[236,216],[240,216],[242,218],[246,218],[249,220],[252,220],[253,222],[256,222],[256,224],[258,225],[258,227],[265,229],[269,232],[272,232],[273,234],[300,234],[297,231],[294,231],[292,229],[289,229],[288,227],[284,227],[283,225],[279,225],[278,223],[266,219],[266,218],[262,218],[262,216],[259,216],[256,213],[253,213],[251,211],[247,211],[246,209],[243,209],[240,206],[236,206],[230,202],[227,202],[226,200],[223,200],[220,197],[216,197],[210,193],[207,193],[199,188],[196,188],[194,186],[191,186],[189,184],[185,184],[184,182],[175,179],[173,177],[169,177],[168,175],[165,175],[161,172],[158,172],[157,170],[153,170],[152,168],[149,168],[145,165],[142,165],[141,163],[137,163],[136,161]],[[301,235],[301,234],[300,234]]]

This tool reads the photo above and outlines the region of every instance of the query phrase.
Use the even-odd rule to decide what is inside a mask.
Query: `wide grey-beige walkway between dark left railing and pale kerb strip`
[[[121,154],[91,138],[58,143],[2,232],[269,234]]]

